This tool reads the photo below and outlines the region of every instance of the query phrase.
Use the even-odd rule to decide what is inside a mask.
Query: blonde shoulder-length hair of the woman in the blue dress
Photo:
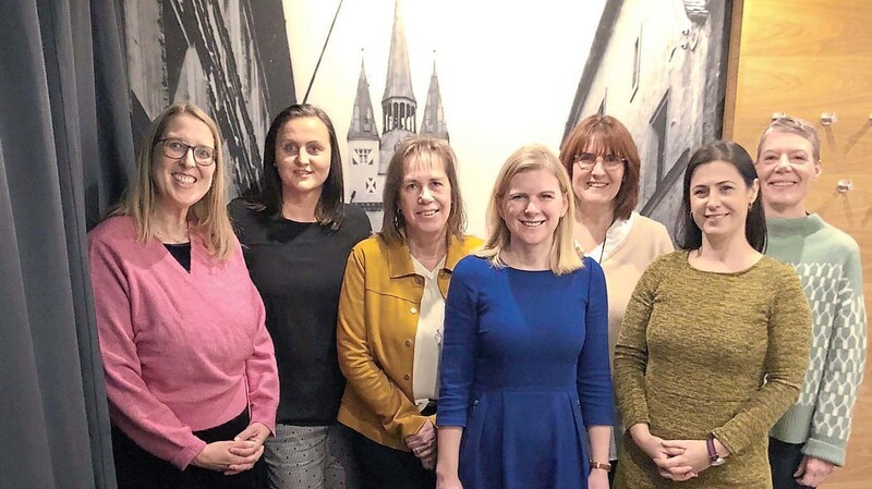
[[[567,200],[566,215],[559,219],[557,228],[554,230],[548,267],[558,276],[570,273],[583,267],[572,236],[572,223],[576,222],[576,206],[572,205],[571,198],[572,182],[569,180],[566,168],[554,152],[538,144],[517,149],[499,170],[494,191],[491,194],[491,203],[487,206],[487,240],[475,255],[487,258],[495,267],[506,266],[501,255],[504,249],[511,244],[511,233],[502,219],[500,208],[505,204],[506,192],[508,192],[511,179],[518,173],[533,170],[552,172],[557,178],[560,193]]]

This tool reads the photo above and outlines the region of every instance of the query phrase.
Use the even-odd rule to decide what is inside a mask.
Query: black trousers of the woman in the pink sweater
[[[206,443],[232,440],[249,426],[247,409],[235,418],[203,431],[194,431]],[[263,459],[254,468],[238,475],[189,465],[179,470],[171,463],[158,459],[112,426],[112,455],[116,462],[118,489],[261,489],[263,487]]]

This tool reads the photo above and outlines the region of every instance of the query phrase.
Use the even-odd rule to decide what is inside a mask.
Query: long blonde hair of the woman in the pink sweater
[[[136,175],[128,186],[121,200],[110,211],[111,216],[128,216],[133,219],[136,236],[141,242],[153,235],[153,213],[155,210],[156,185],[152,175],[155,148],[173,118],[187,114],[202,121],[209,127],[215,142],[215,173],[211,186],[196,204],[187,210],[187,219],[192,221],[192,231],[203,237],[206,249],[215,258],[225,260],[234,250],[233,228],[227,215],[227,169],[225,168],[223,140],[215,121],[203,109],[175,103],[164,109],[155,119],[143,138],[142,149],[136,158]]]

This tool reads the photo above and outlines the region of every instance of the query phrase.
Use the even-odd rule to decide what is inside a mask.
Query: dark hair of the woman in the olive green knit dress
[[[724,161],[736,167],[746,186],[750,187],[758,180],[754,161],[739,144],[731,140],[716,140],[698,149],[690,157],[688,168],[685,170],[685,193],[676,222],[676,242],[681,249],[699,249],[702,246],[702,230],[690,212],[690,180],[699,167],[713,161]],[[744,237],[748,244],[760,253],[766,249],[766,216],[763,212],[762,200],[758,194],[744,221]]]

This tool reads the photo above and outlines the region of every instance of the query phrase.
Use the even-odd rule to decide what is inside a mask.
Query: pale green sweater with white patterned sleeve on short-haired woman
[[[845,463],[867,356],[860,248],[818,215],[766,220],[766,254],[794,266],[812,310],[812,347],[799,401],[772,436],[804,443],[806,455]]]

